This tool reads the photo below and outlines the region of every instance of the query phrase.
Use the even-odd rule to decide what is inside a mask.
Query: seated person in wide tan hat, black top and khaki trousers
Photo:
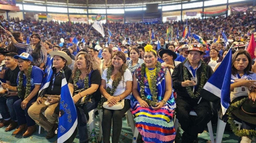
[[[50,84],[46,90],[39,93],[37,102],[30,106],[28,115],[48,133],[46,139],[51,139],[55,135],[58,125],[55,124],[59,114],[56,114],[55,108],[60,101],[62,70],[68,80],[72,71],[66,66],[71,64],[71,58],[63,51],[52,51],[50,55],[53,57],[53,74]],[[42,95],[42,96],[40,96]],[[49,98],[48,98],[49,97]],[[44,114],[43,114],[44,112]],[[57,111],[59,113],[59,111]]]

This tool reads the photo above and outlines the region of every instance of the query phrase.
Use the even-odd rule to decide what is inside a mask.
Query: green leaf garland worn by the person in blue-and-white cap
[[[24,71],[20,71],[19,74],[19,85],[18,85],[18,97],[21,99],[25,99],[28,97],[28,95],[30,94],[30,90],[31,90],[31,73],[32,73],[32,66],[28,67],[28,72],[27,72],[27,85],[26,85],[26,91],[25,91],[25,95],[24,95],[24,86],[23,86],[23,74]]]

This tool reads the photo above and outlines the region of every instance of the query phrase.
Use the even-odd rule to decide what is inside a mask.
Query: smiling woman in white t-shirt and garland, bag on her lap
[[[118,143],[122,129],[122,116],[130,109],[132,91],[132,74],[127,69],[126,57],[123,52],[117,51],[112,56],[112,62],[102,73],[100,92],[104,96],[98,108],[102,108],[103,142],[110,142],[111,122],[113,119],[112,143]],[[121,110],[110,110],[102,107],[105,101],[112,107],[124,99]]]

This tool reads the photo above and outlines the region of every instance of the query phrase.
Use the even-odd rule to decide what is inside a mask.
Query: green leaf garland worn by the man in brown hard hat
[[[186,62],[187,62],[188,59],[186,59],[184,62],[183,62],[183,77],[184,77],[184,81],[186,80],[189,80],[188,78],[188,68],[184,65]],[[187,86],[186,87],[186,90],[189,94],[189,96],[193,99],[197,99],[203,89],[203,86],[205,84],[205,79],[206,79],[206,67],[207,67],[207,64],[205,62],[203,62],[201,60],[201,66],[202,66],[202,69],[201,69],[201,72],[199,72],[201,74],[201,79],[200,79],[200,84],[199,84],[199,87],[196,91],[196,93],[194,94],[193,91],[192,91],[192,88],[190,86]],[[199,68],[200,69],[200,68]]]

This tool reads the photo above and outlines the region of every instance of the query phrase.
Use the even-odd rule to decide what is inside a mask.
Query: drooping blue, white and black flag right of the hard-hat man
[[[230,102],[231,61],[232,52],[229,49],[220,66],[209,78],[201,92],[201,97],[208,101],[216,102],[220,99],[223,115],[226,113]]]

